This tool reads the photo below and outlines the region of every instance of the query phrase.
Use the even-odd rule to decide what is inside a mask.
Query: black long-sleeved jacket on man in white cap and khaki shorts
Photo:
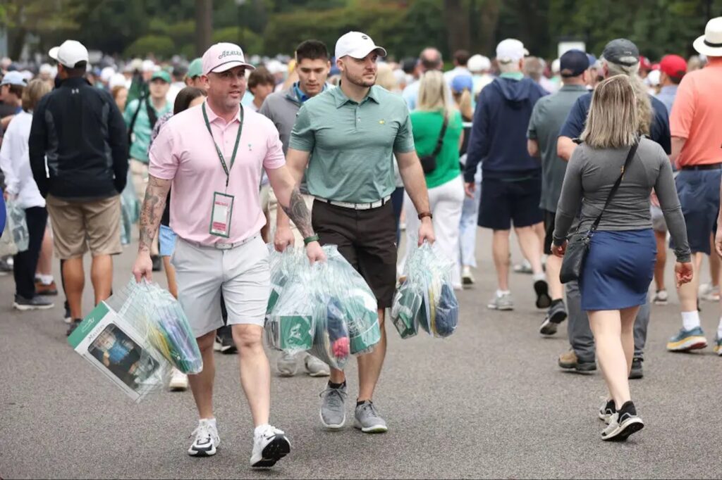
[[[108,92],[85,79],[66,79],[40,100],[32,114],[28,150],[43,197],[100,199],[118,195],[126,186],[123,115]]]

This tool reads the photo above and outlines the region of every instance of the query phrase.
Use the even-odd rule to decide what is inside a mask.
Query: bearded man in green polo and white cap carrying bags
[[[336,66],[341,84],[301,107],[287,153],[287,164],[297,182],[306,172],[308,191],[315,197],[313,228],[321,244],[339,246],[378,302],[380,342],[373,352],[357,357],[359,395],[354,426],[368,433],[387,430],[372,398],[386,356],[384,309],[391,306],[396,284],[396,221],[390,202],[396,188],[394,154],[421,219],[419,244],[434,241],[409,110],[404,99],[374,85],[379,56],[386,56],[386,50],[361,32],[339,38]],[[284,249],[293,244],[294,237],[286,215],[279,212],[277,223],[275,244]],[[321,422],[326,428],[343,427],[346,396],[344,372],[331,369],[329,386],[321,394]]]

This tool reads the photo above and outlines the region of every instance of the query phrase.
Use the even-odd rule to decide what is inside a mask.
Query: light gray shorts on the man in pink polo
[[[264,326],[271,270],[269,249],[260,235],[229,250],[200,247],[178,237],[170,263],[178,301],[196,338],[223,326],[221,292],[228,325]]]

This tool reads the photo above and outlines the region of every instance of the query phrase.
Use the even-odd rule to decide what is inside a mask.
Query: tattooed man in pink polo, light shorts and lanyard
[[[256,426],[251,466],[270,467],[290,452],[284,432],[269,425],[269,362],[261,341],[270,292],[266,223],[258,200],[266,170],[279,205],[303,234],[311,262],[325,259],[313,234],[310,213],[286,169],[283,147],[271,120],[240,106],[246,89],[243,51],[217,43],[203,55],[206,102],[173,116],[150,150],[149,182],[141,212],[136,280],[150,280],[150,245],[173,185],[170,228],[178,234],[172,263],[178,300],[203,355],[204,369],[190,375],[199,411],[193,456],[216,453],[219,436],[213,413],[213,342],[222,326],[220,295],[238,346],[240,381]]]

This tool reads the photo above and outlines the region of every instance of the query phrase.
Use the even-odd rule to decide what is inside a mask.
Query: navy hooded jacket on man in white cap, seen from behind
[[[541,162],[526,151],[526,129],[536,101],[548,93],[534,80],[497,78],[479,94],[464,180],[474,182],[477,165],[483,178],[516,178],[541,172]]]

